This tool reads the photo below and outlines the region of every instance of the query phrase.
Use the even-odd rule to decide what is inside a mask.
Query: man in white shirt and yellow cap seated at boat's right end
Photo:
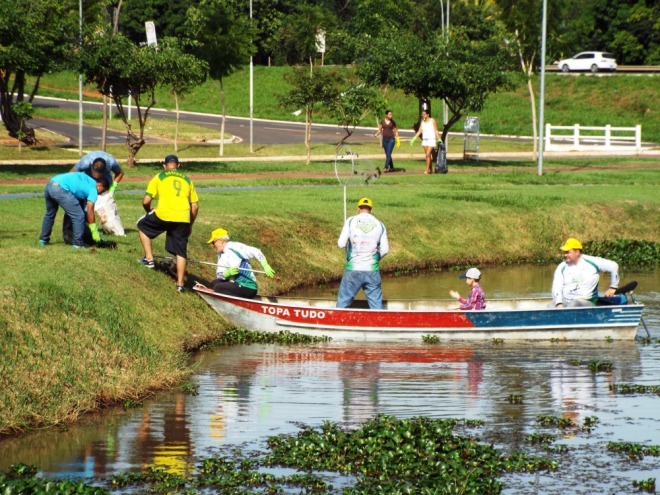
[[[582,254],[582,243],[570,238],[559,248],[564,252],[552,282],[552,302],[556,308],[595,306],[598,302],[600,272],[610,274],[605,297],[614,296],[619,287],[619,265],[605,258]]]

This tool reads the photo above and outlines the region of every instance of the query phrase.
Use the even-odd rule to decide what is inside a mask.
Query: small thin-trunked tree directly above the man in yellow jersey
[[[206,80],[208,64],[195,56],[184,53],[176,38],[165,38],[162,57],[163,84],[172,88],[176,106],[176,128],[174,131],[174,151],[178,151],[179,139],[179,96],[189,92]]]

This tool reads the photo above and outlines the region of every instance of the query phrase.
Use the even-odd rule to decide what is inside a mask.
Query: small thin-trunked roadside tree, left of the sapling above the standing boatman
[[[334,71],[317,70],[310,72],[304,67],[296,67],[286,80],[291,90],[279,97],[280,104],[295,110],[305,109],[305,148],[309,165],[312,156],[312,120],[317,105],[330,106],[337,99],[339,76]]]

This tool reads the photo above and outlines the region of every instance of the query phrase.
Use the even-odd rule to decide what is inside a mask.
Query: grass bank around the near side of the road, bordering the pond
[[[660,241],[658,167],[644,160],[600,167],[606,164],[550,162],[542,177],[515,162],[455,164],[448,175],[385,175],[374,185],[349,187],[348,211],[362,196],[373,199],[389,232],[391,255],[383,263],[389,273],[550,262],[568,236]],[[262,293],[339,279],[343,193],[332,163],[315,164],[314,173],[300,163],[274,166],[185,164],[200,194],[190,257],[212,260],[206,240],[223,226],[262,248],[277,272],[261,281]],[[27,169],[34,183],[8,183]],[[2,192],[39,192],[61,170],[0,167]],[[0,433],[67,423],[178,383],[191,371],[188,354],[225,330],[200,298],[177,294],[167,275],[137,263],[141,190],[157,170],[139,165],[119,189],[127,235],[117,238],[115,251],[73,252],[60,241],[61,214],[53,244],[40,248],[43,199],[0,200]],[[164,254],[163,245],[164,239],[155,242],[157,253]],[[208,267],[191,265],[188,282],[212,276]]]

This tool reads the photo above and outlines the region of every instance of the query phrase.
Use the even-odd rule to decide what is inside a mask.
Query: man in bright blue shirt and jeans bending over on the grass
[[[94,175],[99,174],[94,172]],[[94,242],[99,242],[101,234],[94,217],[94,203],[98,195],[106,191],[108,186],[107,178],[103,176],[92,178],[82,172],[67,172],[56,175],[48,181],[44,189],[46,214],[41,225],[39,244],[45,246],[50,243],[50,234],[60,206],[71,219],[74,249],[85,247],[85,220],[92,239]],[[86,212],[85,207],[87,207]]]

